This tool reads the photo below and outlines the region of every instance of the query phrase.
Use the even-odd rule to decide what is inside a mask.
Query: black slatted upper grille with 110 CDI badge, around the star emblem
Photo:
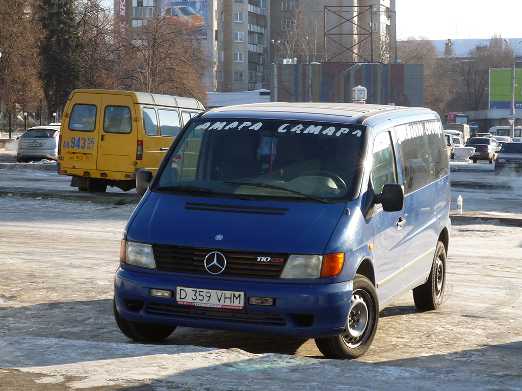
[[[279,278],[288,254],[239,250],[219,250],[184,246],[152,245],[156,268],[162,272],[211,275],[205,268],[206,256],[219,251],[227,259],[222,277]]]

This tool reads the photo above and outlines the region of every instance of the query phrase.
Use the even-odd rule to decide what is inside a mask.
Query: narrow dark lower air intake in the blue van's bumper
[[[285,326],[284,319],[276,313],[231,310],[222,308],[188,307],[171,304],[149,303],[145,309],[149,315],[176,316],[190,319],[233,321],[259,325]]]

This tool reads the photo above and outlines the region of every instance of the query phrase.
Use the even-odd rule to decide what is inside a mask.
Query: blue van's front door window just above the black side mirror
[[[372,185],[376,194],[383,191],[385,184],[397,183],[397,166],[390,132],[375,137],[372,156]]]

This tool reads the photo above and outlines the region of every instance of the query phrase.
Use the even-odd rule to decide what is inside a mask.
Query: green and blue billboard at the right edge
[[[511,69],[490,69],[490,109],[511,109],[511,83]],[[522,69],[515,69],[515,108],[522,109]]]

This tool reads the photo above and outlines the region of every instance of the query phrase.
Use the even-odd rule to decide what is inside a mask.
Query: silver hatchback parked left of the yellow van
[[[18,138],[16,151],[17,162],[31,160],[57,160],[58,138],[60,137],[60,123],[45,126],[35,126],[28,129]]]

